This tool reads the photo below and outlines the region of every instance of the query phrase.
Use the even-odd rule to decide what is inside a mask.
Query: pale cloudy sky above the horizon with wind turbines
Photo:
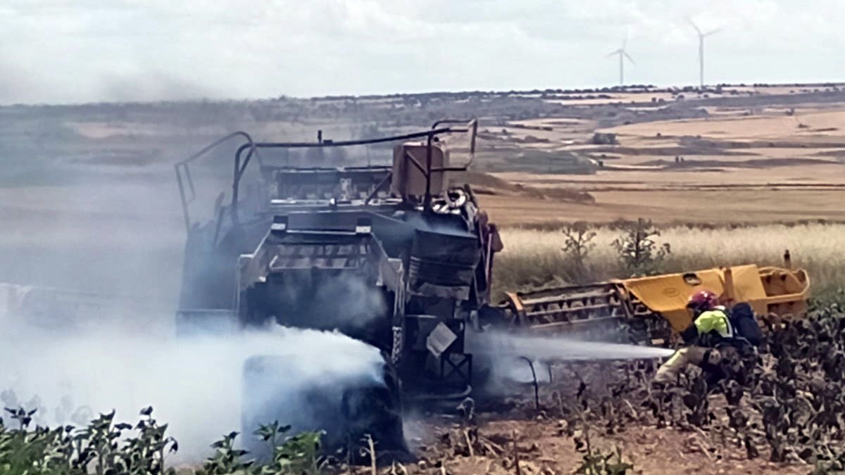
[[[0,103],[845,79],[842,0],[2,0]]]

